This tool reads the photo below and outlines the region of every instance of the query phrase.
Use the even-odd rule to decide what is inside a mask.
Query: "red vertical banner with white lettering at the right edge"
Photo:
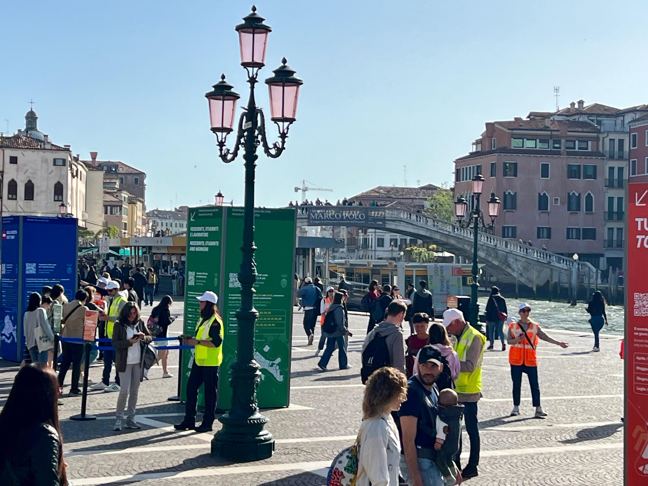
[[[648,484],[648,183],[628,185],[625,273],[625,485]]]

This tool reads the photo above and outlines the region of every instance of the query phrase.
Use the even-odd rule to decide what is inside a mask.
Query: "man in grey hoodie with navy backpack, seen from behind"
[[[405,373],[405,338],[400,323],[406,311],[407,306],[402,301],[391,301],[386,319],[367,334],[362,344],[362,383],[383,366],[392,366]]]

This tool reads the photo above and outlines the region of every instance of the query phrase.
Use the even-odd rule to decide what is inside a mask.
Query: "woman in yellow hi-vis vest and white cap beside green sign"
[[[218,388],[218,367],[223,361],[223,319],[218,314],[218,297],[214,292],[205,292],[200,297],[200,320],[195,336],[183,336],[184,343],[195,347],[194,364],[187,381],[187,406],[185,418],[174,427],[176,430],[195,429],[209,432],[214,423],[216,411],[216,388]],[[203,421],[196,427],[196,404],[198,388],[205,384],[205,413]]]

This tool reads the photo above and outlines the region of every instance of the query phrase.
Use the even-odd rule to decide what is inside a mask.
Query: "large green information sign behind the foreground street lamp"
[[[290,344],[292,342],[293,274],[296,213],[294,209],[255,210],[255,252],[257,282],[254,306],[259,311],[255,326],[255,360],[261,380],[257,388],[259,407],[288,406],[290,395]],[[223,364],[220,367],[218,404],[227,409],[231,402],[229,366],[237,349],[240,305],[240,266],[243,209],[200,207],[189,209],[187,225],[187,268],[185,334],[194,334],[199,317],[198,300],[205,290],[218,294],[218,308],[224,321]],[[183,353],[183,386],[193,360]],[[199,397],[202,403],[202,397]]]

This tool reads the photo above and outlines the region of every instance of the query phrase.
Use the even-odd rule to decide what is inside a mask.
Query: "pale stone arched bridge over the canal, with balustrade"
[[[297,225],[308,226],[310,206],[297,208]],[[317,207],[321,209],[321,207]],[[339,209],[339,207],[336,207]],[[351,208],[349,208],[351,209]],[[357,209],[353,207],[353,209]],[[472,229],[463,229],[456,224],[443,220],[410,213],[402,209],[385,209],[386,226],[384,229],[399,235],[432,241],[446,251],[472,260]],[[361,223],[340,222],[338,226],[363,226]],[[325,224],[330,226],[330,224]],[[499,282],[520,283],[529,288],[550,283],[570,282],[574,261],[572,258],[557,255],[540,248],[520,244],[515,240],[496,237],[480,231],[478,234],[478,257],[485,270]],[[581,283],[595,283],[597,278],[594,266],[580,262],[579,280]]]

